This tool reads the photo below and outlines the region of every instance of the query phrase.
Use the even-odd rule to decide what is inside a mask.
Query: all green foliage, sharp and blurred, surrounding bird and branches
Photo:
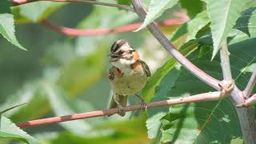
[[[132,6],[130,1],[104,2]],[[146,102],[212,91],[174,58],[166,57],[166,51],[160,53],[161,46],[155,45],[158,42],[142,30],[154,20],[170,18],[171,14],[181,10],[186,10],[190,21],[163,29],[170,42],[207,74],[222,79],[218,49],[227,39],[234,80],[239,89],[245,88],[256,63],[253,47],[256,44],[255,2],[142,2],[148,7],[148,14],[138,28],[140,31],[74,38],[56,34],[38,23],[50,19],[59,25],[81,30],[104,30],[138,22],[138,17],[107,6],[31,2],[11,7],[10,1],[2,0],[0,143],[242,143],[238,117],[228,98],[163,106],[130,119],[129,114],[125,118],[113,115],[38,126],[26,129],[28,134],[15,126],[14,122],[30,119],[106,109],[111,96],[107,81],[110,66],[106,55],[111,44],[120,38],[127,39],[139,50],[143,60],[164,59],[164,62],[146,61],[154,73],[141,92]],[[28,51],[22,51],[26,49],[16,37]],[[22,50],[11,49],[14,46],[8,42]],[[26,105],[19,106],[21,103]],[[134,103],[134,98],[130,98],[130,103]]]

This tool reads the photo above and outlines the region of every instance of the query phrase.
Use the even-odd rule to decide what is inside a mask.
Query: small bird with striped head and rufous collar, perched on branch
[[[147,77],[150,77],[150,68],[143,62],[126,40],[114,42],[110,50],[109,79],[113,90],[110,108],[118,107],[118,114],[124,116],[129,95],[135,95],[142,102],[142,109],[146,109],[145,101],[138,96],[138,91],[146,85]]]

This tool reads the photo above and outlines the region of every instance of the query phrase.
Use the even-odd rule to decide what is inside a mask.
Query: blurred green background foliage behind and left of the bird
[[[23,6],[33,7],[36,3]],[[17,9],[20,14],[33,13],[32,9],[22,13],[25,8]],[[167,11],[163,18],[173,18],[172,11]],[[0,107],[28,102],[4,114],[13,122],[106,109],[111,96],[107,54],[117,39],[128,40],[152,72],[167,59],[166,51],[146,30],[136,34],[71,37],[24,19],[25,16],[16,18],[15,31],[27,51],[0,38]],[[61,6],[47,19],[59,26],[80,29],[114,28],[140,22],[136,14],[126,10],[83,4]],[[170,34],[177,27],[164,30]],[[130,98],[130,103],[138,101]],[[145,114],[130,118],[128,113],[125,118],[117,115],[90,118],[31,127],[26,132],[42,143],[148,143],[152,140],[147,138],[145,122]],[[15,141],[4,138],[0,142]]]

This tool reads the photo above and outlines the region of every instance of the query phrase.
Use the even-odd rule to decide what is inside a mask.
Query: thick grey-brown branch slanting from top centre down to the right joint
[[[144,10],[140,0],[131,0],[135,12],[141,18],[142,21],[146,18],[146,10]],[[166,38],[164,34],[158,29],[154,23],[151,23],[147,28],[150,30],[151,34],[154,35],[154,38],[158,39],[158,42],[170,52],[170,54],[181,63],[186,70],[190,70],[197,78],[201,79],[203,82],[206,82],[211,87],[214,87],[216,90],[222,89],[222,82],[211,77],[209,74],[206,74],[204,71],[200,70],[197,66],[194,66],[185,56],[183,56]],[[220,86],[221,85],[221,86]],[[224,87],[224,86],[223,86]]]

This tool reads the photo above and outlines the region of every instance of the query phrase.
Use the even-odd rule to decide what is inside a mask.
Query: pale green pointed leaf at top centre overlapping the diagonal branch
[[[175,4],[177,4],[177,2],[178,0],[151,0],[146,18],[138,30],[142,30],[151,22],[154,22],[154,20],[160,17],[165,10],[173,7]]]

